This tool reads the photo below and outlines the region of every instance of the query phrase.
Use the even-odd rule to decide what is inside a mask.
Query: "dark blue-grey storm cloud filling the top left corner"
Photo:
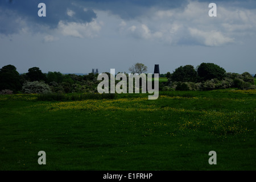
[[[41,2],[46,4],[46,17],[38,16],[38,4]],[[68,11],[73,12],[72,16],[68,15]],[[56,28],[60,20],[82,23],[91,22],[97,17],[92,9],[85,10],[76,1],[68,0],[4,0],[0,1],[0,13],[0,33],[2,34],[18,32],[25,24],[32,30],[38,25]]]

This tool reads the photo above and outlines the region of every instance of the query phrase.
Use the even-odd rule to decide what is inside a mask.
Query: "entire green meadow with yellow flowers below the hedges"
[[[255,90],[0,96],[0,170],[255,170]],[[46,152],[46,165],[38,152]],[[216,151],[217,165],[208,163]]]

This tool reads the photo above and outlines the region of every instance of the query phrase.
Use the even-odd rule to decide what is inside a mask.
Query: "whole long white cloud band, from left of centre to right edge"
[[[164,44],[195,43],[204,46],[223,46],[240,43],[244,36],[255,35],[256,11],[237,10],[217,4],[217,17],[209,17],[207,2],[188,1],[185,7],[158,9],[151,7],[135,19],[125,20],[109,11],[98,10],[97,19],[90,23],[60,21],[57,31],[64,36],[94,38],[114,31],[136,39],[159,41]],[[86,9],[84,9],[86,10]],[[75,12],[68,10],[73,16]],[[103,20],[103,21],[102,21]],[[103,23],[104,22],[104,26]],[[51,38],[45,38],[51,40]]]

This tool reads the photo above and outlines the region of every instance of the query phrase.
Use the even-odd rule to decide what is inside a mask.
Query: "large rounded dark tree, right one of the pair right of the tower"
[[[197,68],[197,73],[201,80],[211,80],[213,78],[217,78],[218,80],[222,80],[225,77],[225,69],[214,63],[201,63]]]

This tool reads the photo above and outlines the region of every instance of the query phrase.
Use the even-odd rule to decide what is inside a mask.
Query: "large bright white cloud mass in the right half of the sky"
[[[217,17],[210,17],[209,3],[188,1],[187,6],[160,10],[156,7],[123,24],[121,33],[134,38],[159,40],[168,44],[195,42],[204,46],[241,43],[255,36],[256,11],[217,4]]]

